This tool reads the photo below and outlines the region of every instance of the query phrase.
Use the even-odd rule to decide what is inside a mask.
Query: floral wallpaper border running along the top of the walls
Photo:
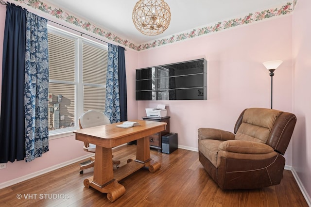
[[[293,0],[292,2],[287,2],[286,5],[283,5],[280,8],[274,8],[274,9],[264,10],[261,12],[250,13],[244,17],[234,18],[234,19],[230,19],[228,21],[218,22],[215,25],[193,29],[193,30],[186,32],[186,33],[180,33],[180,34],[172,35],[172,36],[167,37],[167,38],[152,41],[150,43],[135,45],[134,43],[131,43],[129,40],[123,40],[111,32],[104,31],[103,29],[97,27],[96,25],[93,25],[87,21],[81,20],[76,16],[72,16],[60,8],[53,8],[52,6],[42,2],[40,0],[14,0],[14,1],[26,4],[30,7],[33,7],[35,9],[38,9],[38,10],[44,12],[44,13],[50,14],[51,16],[56,17],[57,19],[64,20],[64,21],[69,22],[70,24],[74,24],[74,25],[76,25],[76,26],[78,26],[78,27],[80,27],[86,31],[93,32],[93,33],[100,35],[100,36],[102,36],[108,40],[111,40],[113,42],[121,44],[124,47],[132,48],[132,49],[137,50],[137,51],[168,45],[168,44],[179,42],[182,40],[199,37],[199,36],[209,34],[212,32],[218,32],[218,31],[229,29],[229,28],[236,27],[236,26],[250,24],[253,22],[257,22],[257,21],[267,19],[267,18],[271,18],[271,17],[275,17],[275,16],[287,15],[287,14],[290,14],[291,12],[294,11],[294,6],[297,3],[297,0]]]

